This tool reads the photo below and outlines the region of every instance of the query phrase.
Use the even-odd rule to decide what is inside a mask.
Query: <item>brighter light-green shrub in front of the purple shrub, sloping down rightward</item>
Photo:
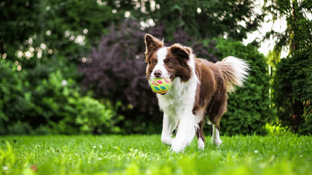
[[[47,80],[43,79],[34,92],[36,115],[46,120],[51,133],[119,131],[110,121],[116,116],[115,111],[91,97],[81,97],[77,83],[71,78],[65,79],[60,71],[51,73]],[[32,116],[30,120],[36,120],[36,117]]]

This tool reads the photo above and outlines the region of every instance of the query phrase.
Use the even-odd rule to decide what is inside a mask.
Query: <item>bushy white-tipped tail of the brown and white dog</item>
[[[244,86],[243,82],[246,81],[246,76],[248,76],[247,71],[250,70],[249,65],[245,60],[228,56],[222,59],[222,61],[218,61],[216,65],[222,72],[227,92],[234,92],[234,85],[239,87]]]

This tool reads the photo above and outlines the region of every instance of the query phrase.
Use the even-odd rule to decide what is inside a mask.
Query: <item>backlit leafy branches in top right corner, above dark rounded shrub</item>
[[[290,46],[290,54],[293,54],[295,50],[311,49],[312,21],[308,19],[308,14],[312,11],[311,0],[266,0],[266,2],[263,10],[273,16],[270,21],[274,22],[280,18],[287,21],[287,28],[284,32],[276,32],[272,29],[264,38],[271,37],[275,40],[275,56],[278,56],[278,53],[286,46]]]

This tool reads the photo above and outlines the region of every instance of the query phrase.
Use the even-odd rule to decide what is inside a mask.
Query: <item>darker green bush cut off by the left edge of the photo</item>
[[[19,72],[11,61],[0,59],[0,74],[0,135],[2,135],[7,132],[7,125],[22,120],[25,111],[30,111],[34,104],[31,92],[25,91],[29,87],[25,71]]]

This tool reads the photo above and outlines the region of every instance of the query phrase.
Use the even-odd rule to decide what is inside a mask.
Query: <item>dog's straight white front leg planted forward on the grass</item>
[[[180,152],[184,150],[193,140],[196,132],[197,123],[195,116],[191,113],[184,114],[179,121],[178,131],[171,146],[171,150],[174,152]]]

